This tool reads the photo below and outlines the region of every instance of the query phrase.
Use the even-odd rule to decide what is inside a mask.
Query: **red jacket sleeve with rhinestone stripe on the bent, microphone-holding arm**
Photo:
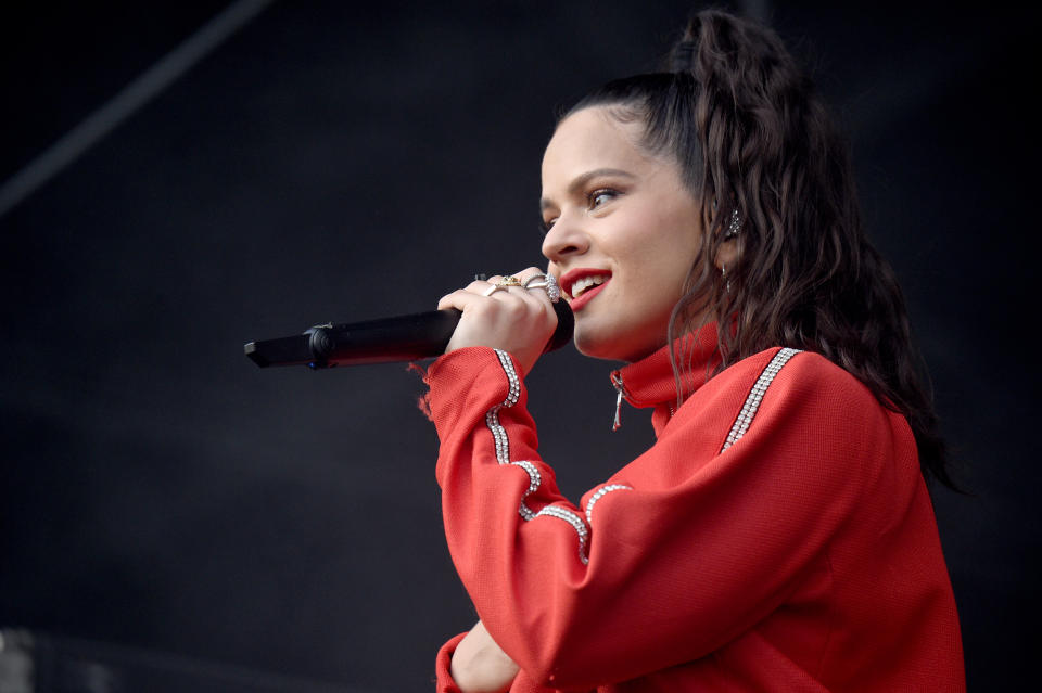
[[[778,355],[709,381],[582,509],[538,457],[509,355],[475,347],[432,364],[449,552],[529,677],[588,690],[716,650],[786,600],[878,484],[893,414],[817,355],[763,385]]]

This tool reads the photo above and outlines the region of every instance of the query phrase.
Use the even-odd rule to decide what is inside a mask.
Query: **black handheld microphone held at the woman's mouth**
[[[563,300],[554,304],[557,330],[546,351],[572,341],[575,318]],[[243,348],[260,368],[268,365],[360,365],[391,361],[415,361],[441,356],[463,313],[455,308],[365,322],[315,325],[303,334],[250,342]]]

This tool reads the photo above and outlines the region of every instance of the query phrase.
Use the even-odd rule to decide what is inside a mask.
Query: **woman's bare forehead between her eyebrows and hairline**
[[[661,165],[638,146],[641,134],[641,124],[620,123],[603,106],[571,114],[558,125],[543,155],[544,188],[596,168]]]

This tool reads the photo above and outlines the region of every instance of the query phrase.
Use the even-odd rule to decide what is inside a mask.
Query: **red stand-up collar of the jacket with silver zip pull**
[[[656,436],[661,435],[677,406],[676,378],[670,363],[671,348],[676,349],[681,359],[681,383],[686,399],[706,384],[710,373],[720,363],[715,322],[702,326],[694,334],[678,337],[672,345],[665,345],[639,361],[611,372],[612,385],[627,402],[639,409],[655,407],[651,424],[655,426]]]

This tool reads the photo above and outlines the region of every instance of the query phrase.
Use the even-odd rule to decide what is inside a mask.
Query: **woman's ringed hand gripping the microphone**
[[[536,274],[543,271],[530,267],[514,277],[523,283]],[[509,286],[486,295],[500,279],[471,282],[437,303],[439,310],[463,311],[445,352],[468,346],[503,349],[518,360],[522,373],[530,373],[557,328],[557,313],[543,288]]]

